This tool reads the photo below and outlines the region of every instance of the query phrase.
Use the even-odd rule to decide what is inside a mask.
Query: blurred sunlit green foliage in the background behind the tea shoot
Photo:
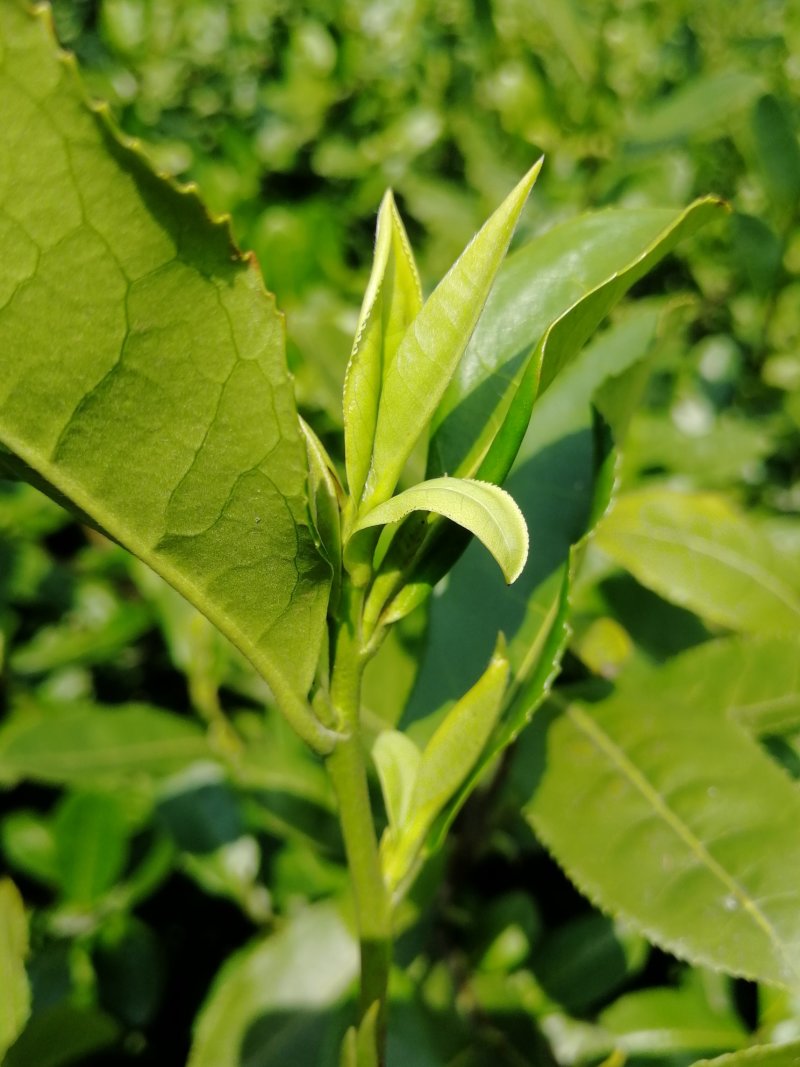
[[[287,314],[301,408],[334,450],[385,187],[428,289],[542,153],[519,240],[590,208],[726,197],[729,219],[638,287],[669,314],[622,477],[724,490],[796,552],[800,5],[53,7],[91,94],[255,252]],[[324,776],[262,716],[262,684],[203,619],[27,487],[0,487],[0,848],[31,909],[33,1003],[4,1062],[185,1063],[229,954],[345,886]],[[567,676],[610,678],[708,635],[599,556],[576,608]],[[412,619],[395,651],[399,689],[419,641]],[[159,743],[129,760],[119,740],[143,723]],[[614,1047],[679,1065],[756,1030],[800,1032],[786,996],[681,965],[592,910],[515,803],[513,776],[479,795],[405,906],[393,1067],[597,1062]],[[338,945],[335,921],[318,919],[314,936]],[[316,981],[311,967],[307,1048],[333,1048],[341,1020],[314,1014]],[[285,1062],[311,1062],[286,1039]],[[277,1062],[253,1049],[247,1064]],[[192,1060],[206,1062],[223,1067]]]

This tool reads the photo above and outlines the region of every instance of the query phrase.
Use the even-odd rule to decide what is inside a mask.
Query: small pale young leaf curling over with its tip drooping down
[[[432,478],[367,511],[358,530],[398,523],[412,511],[432,511],[474,534],[492,553],[511,585],[528,558],[528,527],[513,497],[487,481]]]

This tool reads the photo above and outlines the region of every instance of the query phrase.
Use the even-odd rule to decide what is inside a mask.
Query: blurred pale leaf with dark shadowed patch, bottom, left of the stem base
[[[197,1017],[188,1067],[334,1067],[342,1035],[331,1016],[357,967],[357,944],[333,904],[300,912],[225,964]]]

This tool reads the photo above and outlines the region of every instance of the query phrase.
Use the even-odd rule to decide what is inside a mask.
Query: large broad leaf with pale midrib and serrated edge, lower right
[[[516,775],[527,818],[602,907],[678,956],[795,987],[800,793],[735,721],[740,694],[781,702],[753,678],[767,649],[691,651],[599,703],[540,711]]]

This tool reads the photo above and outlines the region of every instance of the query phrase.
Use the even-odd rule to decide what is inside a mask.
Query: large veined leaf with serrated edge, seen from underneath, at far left
[[[0,444],[197,605],[313,736],[299,698],[330,579],[274,302],[16,2],[0,108]]]

